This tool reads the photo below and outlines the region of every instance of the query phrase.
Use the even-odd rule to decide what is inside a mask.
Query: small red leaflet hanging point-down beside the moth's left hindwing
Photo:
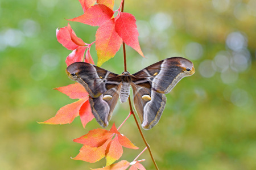
[[[90,109],[90,103],[89,100],[85,101],[84,104],[82,104],[80,111],[79,111],[80,119],[82,122],[82,126],[85,128],[86,124],[93,120],[94,116],[92,114],[92,111]]]

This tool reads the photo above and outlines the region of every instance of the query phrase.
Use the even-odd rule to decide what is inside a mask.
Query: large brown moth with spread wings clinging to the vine
[[[195,73],[193,63],[182,57],[166,58],[130,74],[114,74],[86,62],[69,65],[66,73],[84,86],[89,94],[92,113],[98,124],[108,126],[118,98],[124,103],[133,89],[135,110],[143,129],[155,126],[166,105],[168,92],[185,76]]]

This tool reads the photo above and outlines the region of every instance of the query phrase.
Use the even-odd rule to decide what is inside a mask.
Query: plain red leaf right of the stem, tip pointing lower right
[[[139,46],[139,32],[136,25],[136,19],[133,15],[121,12],[119,18],[115,22],[115,30],[125,44],[131,46],[131,48],[135,49],[144,57],[141,46]]]

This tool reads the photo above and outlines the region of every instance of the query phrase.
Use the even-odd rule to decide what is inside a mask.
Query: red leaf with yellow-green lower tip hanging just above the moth
[[[122,44],[122,39],[115,31],[115,19],[101,25],[96,32],[97,66],[115,56]]]

